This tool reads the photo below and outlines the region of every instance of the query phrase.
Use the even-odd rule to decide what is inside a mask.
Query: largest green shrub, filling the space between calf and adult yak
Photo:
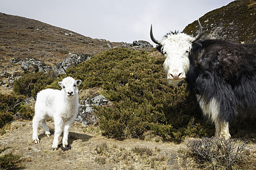
[[[113,102],[97,108],[102,135],[143,138],[145,131],[152,130],[165,139],[180,140],[191,131],[187,128],[191,119],[202,121],[201,111],[186,84],[168,84],[163,62],[164,56],[157,52],[115,48],[67,69],[66,76],[82,80],[81,89],[100,87]],[[197,128],[200,132],[205,127]],[[208,131],[203,132],[197,135]]]

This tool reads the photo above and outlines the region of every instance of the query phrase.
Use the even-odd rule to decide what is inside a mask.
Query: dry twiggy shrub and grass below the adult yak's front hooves
[[[187,166],[201,170],[253,170],[256,155],[246,148],[246,142],[238,139],[203,137],[187,139],[183,153]],[[185,156],[184,156],[185,155]]]

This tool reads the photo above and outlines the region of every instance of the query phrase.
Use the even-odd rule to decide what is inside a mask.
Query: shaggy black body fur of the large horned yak
[[[230,122],[238,110],[256,109],[256,43],[194,42],[188,85],[206,102],[219,103],[219,119]]]

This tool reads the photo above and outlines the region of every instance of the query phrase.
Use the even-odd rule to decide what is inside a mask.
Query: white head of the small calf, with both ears
[[[62,90],[68,97],[72,97],[78,94],[78,85],[81,84],[81,80],[75,80],[72,77],[66,77],[59,82]]]

